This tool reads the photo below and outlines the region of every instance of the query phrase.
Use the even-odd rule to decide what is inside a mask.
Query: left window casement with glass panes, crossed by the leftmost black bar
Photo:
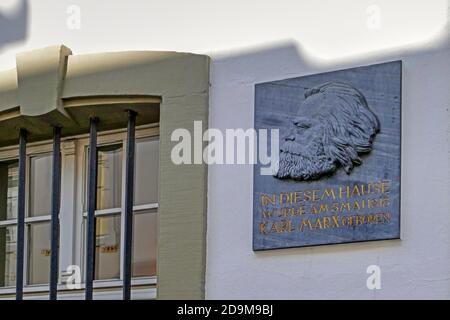
[[[16,275],[18,161],[0,163],[0,286]],[[26,212],[26,284],[45,284],[50,273],[51,154],[29,157]]]

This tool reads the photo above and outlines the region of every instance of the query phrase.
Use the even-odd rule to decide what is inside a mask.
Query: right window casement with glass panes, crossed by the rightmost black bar
[[[156,276],[159,140],[136,132],[132,276]],[[141,136],[141,137],[139,137]],[[103,136],[97,148],[95,280],[121,279],[126,135]],[[84,141],[83,234],[87,225],[88,141]],[[82,239],[83,248],[85,237]],[[83,250],[84,252],[84,250]],[[83,267],[84,267],[83,257]]]

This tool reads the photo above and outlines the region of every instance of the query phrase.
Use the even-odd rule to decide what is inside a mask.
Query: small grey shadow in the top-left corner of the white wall
[[[25,40],[28,34],[28,0],[20,0],[12,14],[0,11],[0,52],[6,45]]]

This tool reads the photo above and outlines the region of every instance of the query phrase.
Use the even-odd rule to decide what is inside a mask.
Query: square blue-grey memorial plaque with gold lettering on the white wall
[[[401,77],[394,61],[255,86],[279,161],[254,166],[254,250],[400,238]]]

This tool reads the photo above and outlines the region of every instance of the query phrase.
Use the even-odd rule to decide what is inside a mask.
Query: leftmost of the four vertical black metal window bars
[[[27,131],[19,133],[19,188],[17,204],[16,300],[23,299],[23,261],[25,248],[25,175],[27,163]]]

